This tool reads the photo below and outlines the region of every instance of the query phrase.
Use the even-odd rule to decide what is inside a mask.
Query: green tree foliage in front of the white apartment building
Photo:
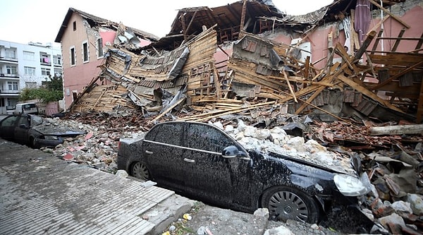
[[[63,80],[61,76],[46,79],[41,88],[25,88],[20,92],[19,100],[41,100],[42,102],[59,101],[63,99]]]

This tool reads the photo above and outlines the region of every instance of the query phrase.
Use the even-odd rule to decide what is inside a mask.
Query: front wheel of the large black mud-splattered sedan
[[[269,209],[272,220],[294,219],[309,224],[319,221],[319,206],[309,195],[298,188],[276,186],[262,195],[262,207]]]

